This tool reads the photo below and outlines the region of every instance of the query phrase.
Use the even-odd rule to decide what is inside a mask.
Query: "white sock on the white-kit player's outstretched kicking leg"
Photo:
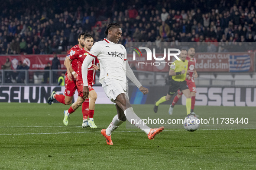
[[[149,134],[150,127],[143,124],[143,121],[134,113],[133,107],[129,107],[124,110],[124,114],[126,116],[126,120],[128,120],[131,124],[143,130],[146,134]],[[133,121],[134,120],[134,121]]]

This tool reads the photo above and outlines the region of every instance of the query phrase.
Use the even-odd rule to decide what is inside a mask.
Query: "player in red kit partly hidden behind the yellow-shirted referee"
[[[194,54],[195,54],[195,50],[193,47],[188,49],[188,57],[186,58],[186,60],[188,60],[188,72],[189,72],[189,76],[191,77],[190,80],[188,80],[186,78],[186,82],[191,94],[191,114],[194,116],[198,116],[194,113],[194,103],[195,103],[195,94],[196,94],[196,86],[194,83],[194,78],[198,77],[198,73],[195,70],[195,63],[196,60],[194,58]],[[169,108],[169,114],[172,115],[172,111],[173,111],[173,107],[175,106],[175,104],[178,102],[178,100],[181,98],[182,92],[180,90],[178,90],[178,94],[175,96],[175,98],[172,101],[172,104],[170,105]]]

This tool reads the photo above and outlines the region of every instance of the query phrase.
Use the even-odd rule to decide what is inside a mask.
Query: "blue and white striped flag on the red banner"
[[[230,72],[248,72],[251,66],[251,58],[249,55],[237,56],[230,55],[229,71]]]

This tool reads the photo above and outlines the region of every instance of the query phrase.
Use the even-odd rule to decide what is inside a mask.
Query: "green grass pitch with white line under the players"
[[[81,108],[63,125],[63,104],[0,103],[0,169],[255,169],[256,130],[205,129],[188,132],[182,126],[165,129],[154,140],[123,123],[111,135],[113,145],[100,134],[116,114],[113,105],[97,104],[97,129],[81,128]],[[153,105],[134,106],[136,113],[152,113]],[[168,105],[159,116],[168,117]],[[196,106],[198,115],[225,113],[225,117],[253,113],[256,107]],[[173,116],[185,113],[175,106]],[[143,113],[144,114],[144,113]],[[154,113],[155,114],[155,113]],[[168,115],[168,116],[167,116]],[[221,116],[221,115],[216,115]],[[178,115],[184,118],[185,115]],[[176,128],[176,127],[175,127]]]

